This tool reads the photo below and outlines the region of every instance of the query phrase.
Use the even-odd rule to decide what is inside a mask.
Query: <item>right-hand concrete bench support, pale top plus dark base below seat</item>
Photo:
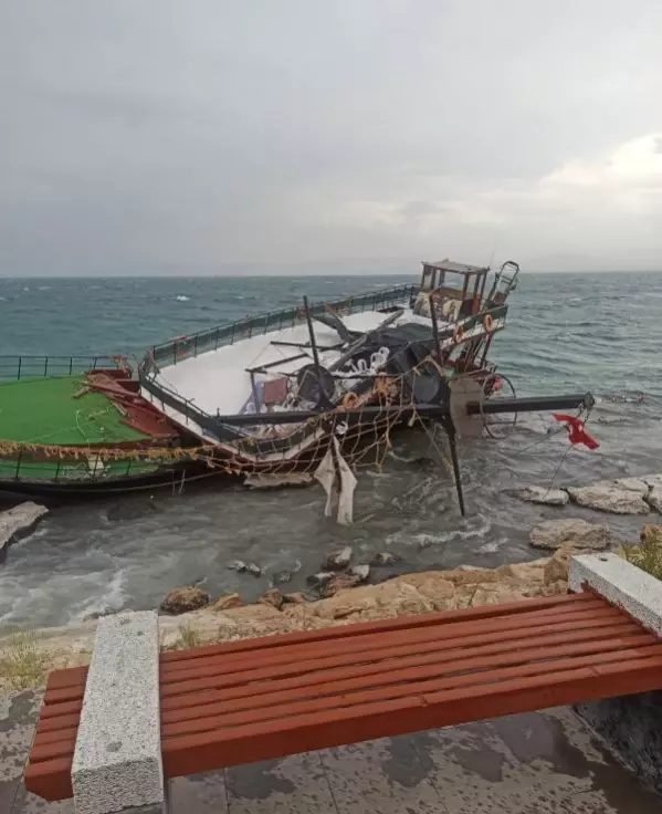
[[[616,554],[575,556],[570,588],[588,585],[662,636],[662,583]],[[661,676],[662,682],[662,676]],[[662,691],[575,706],[608,749],[662,794]]]

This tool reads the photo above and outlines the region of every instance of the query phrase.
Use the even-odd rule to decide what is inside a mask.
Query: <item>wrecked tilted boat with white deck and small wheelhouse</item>
[[[235,474],[311,468],[334,434],[355,449],[401,422],[391,408],[446,404],[454,377],[495,389],[487,354],[518,271],[512,261],[496,273],[424,262],[418,285],[329,303],[304,298],[298,307],[178,336],[145,356],[140,393]],[[366,408],[379,405],[388,416],[369,417]],[[340,431],[338,411],[347,413]]]

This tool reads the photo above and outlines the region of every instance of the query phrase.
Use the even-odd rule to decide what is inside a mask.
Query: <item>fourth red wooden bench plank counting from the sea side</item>
[[[627,625],[618,624],[611,627],[600,628],[600,633],[603,637],[609,637],[612,641],[618,641],[622,639],[623,636],[632,634],[632,629]],[[652,644],[656,641],[655,637],[643,630],[635,629],[632,635],[637,637],[647,637],[641,638],[641,644]],[[303,687],[316,680],[316,678],[321,678],[322,680],[324,680],[324,678],[328,678],[329,680],[344,680],[345,678],[356,676],[357,670],[359,669],[362,675],[379,675],[393,667],[397,668],[404,665],[423,666],[459,657],[469,658],[472,656],[488,656],[491,654],[498,655],[503,653],[505,647],[509,650],[516,650],[532,647],[534,644],[553,647],[559,644],[571,645],[577,643],[588,645],[592,640],[595,640],[595,634],[591,630],[587,632],[585,629],[555,632],[548,636],[538,636],[535,641],[532,641],[529,637],[515,639],[514,636],[512,640],[502,639],[494,641],[491,635],[482,635],[467,637],[467,639],[463,641],[462,648],[451,647],[444,650],[432,649],[423,651],[419,651],[417,649],[411,653],[407,653],[404,648],[399,648],[399,651],[397,653],[386,648],[380,651],[380,655],[382,656],[381,660],[357,660],[355,655],[349,658],[344,655],[329,656],[325,659],[309,662],[309,669],[306,662],[302,662],[296,666],[296,669],[292,668],[285,671],[285,675],[281,678],[279,678],[277,675],[270,672],[266,678],[262,679],[260,674],[254,672],[251,675],[249,681],[244,678],[241,682],[237,682],[233,674],[228,677],[227,686],[222,688],[217,687],[217,689],[213,690],[181,692],[162,697],[161,714],[191,706],[220,702],[229,698],[241,698],[244,695],[258,696],[263,692],[270,692],[272,688],[275,690]],[[602,639],[599,640],[599,645],[600,647],[603,645]],[[314,672],[312,677],[311,672]],[[281,671],[281,675],[282,674],[283,671]]]

